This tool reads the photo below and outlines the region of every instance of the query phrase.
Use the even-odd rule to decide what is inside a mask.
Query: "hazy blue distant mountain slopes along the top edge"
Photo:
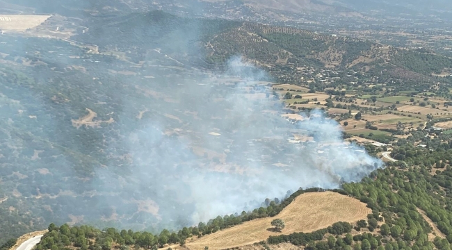
[[[165,10],[195,15],[213,15],[228,17],[250,17],[269,11],[292,12],[296,14],[321,13],[325,15],[344,15],[385,12],[386,15],[424,14],[451,12],[452,3],[447,0],[433,1],[387,1],[387,0],[3,0],[0,10],[3,12],[19,8],[20,11],[55,12],[60,15],[102,15],[108,13],[146,12]],[[18,7],[19,6],[19,7]],[[22,6],[22,7],[20,7]],[[3,10],[2,10],[3,9]],[[234,11],[231,11],[234,10]]]

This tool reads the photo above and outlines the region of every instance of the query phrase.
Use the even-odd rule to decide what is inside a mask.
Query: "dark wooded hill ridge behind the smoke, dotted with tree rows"
[[[364,76],[392,72],[392,78],[433,82],[432,74],[449,72],[452,60],[428,51],[407,51],[375,42],[320,34],[293,27],[222,19],[190,19],[165,12],[92,19],[87,32],[74,39],[106,51],[127,51],[134,62],[152,50],[186,66],[222,67],[241,55],[282,83],[300,83],[307,72],[335,69]],[[404,71],[401,74],[401,71]],[[394,80],[392,79],[392,80]]]

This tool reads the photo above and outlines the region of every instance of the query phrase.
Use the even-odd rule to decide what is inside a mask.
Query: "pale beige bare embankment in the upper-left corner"
[[[0,28],[2,31],[26,31],[35,28],[50,15],[0,15]]]

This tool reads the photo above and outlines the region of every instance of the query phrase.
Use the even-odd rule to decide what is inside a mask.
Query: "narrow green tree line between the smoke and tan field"
[[[243,211],[240,215],[232,214],[225,215],[224,217],[218,216],[215,219],[209,220],[207,224],[200,222],[197,226],[184,227],[178,232],[170,232],[163,229],[161,233],[152,234],[148,232],[134,232],[131,230],[118,231],[115,228],[106,228],[103,231],[100,231],[92,226],[69,227],[67,224],[63,224],[58,227],[55,224],[50,224],[49,232],[44,235],[40,244],[38,244],[37,250],[58,250],[65,249],[69,246],[78,247],[83,250],[108,250],[111,249],[113,245],[123,245],[125,247],[133,245],[144,248],[163,247],[165,244],[183,245],[185,240],[193,235],[202,237],[202,235],[215,233],[216,231],[236,226],[252,219],[273,217],[279,214],[282,209],[288,206],[293,199],[300,194],[321,191],[324,190],[319,188],[310,188],[307,190],[300,189],[293,192],[293,194],[288,195],[282,201],[279,199],[274,199],[273,201],[266,199],[263,203],[264,206],[248,213]],[[332,230],[342,230],[340,229],[340,226],[341,225],[334,226]]]

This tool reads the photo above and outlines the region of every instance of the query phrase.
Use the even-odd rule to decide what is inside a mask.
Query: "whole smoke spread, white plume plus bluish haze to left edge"
[[[197,69],[200,59],[190,58],[202,50],[192,45],[206,24],[168,32],[161,14],[152,15],[146,22],[155,26],[129,28],[145,44],[136,62],[121,54],[134,42],[114,45],[115,57],[65,41],[1,37],[9,55],[1,206],[31,211],[34,226],[179,228],[300,187],[339,188],[382,167],[346,147],[339,124],[321,110],[295,123],[281,117],[271,76],[240,55],[222,69]],[[75,39],[112,50],[116,41],[103,40],[108,27],[96,28]]]

